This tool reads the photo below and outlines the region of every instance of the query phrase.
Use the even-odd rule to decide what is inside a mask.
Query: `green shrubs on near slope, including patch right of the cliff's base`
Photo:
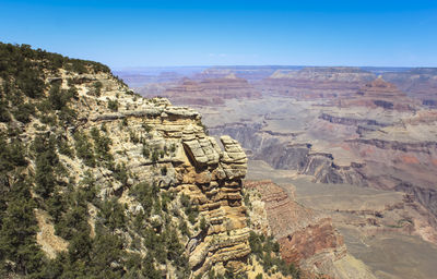
[[[115,138],[105,124],[82,129],[80,108],[88,105],[79,97],[80,78],[86,74],[111,76],[96,62],[0,43],[0,277],[190,277],[184,243],[209,225],[189,196],[156,183],[129,182],[135,174],[117,162],[126,151],[111,150]],[[69,77],[66,84],[62,76],[79,82]],[[86,94],[98,105],[103,88],[102,82],[92,82]],[[117,99],[106,104],[102,107],[108,111],[119,110]],[[167,175],[167,166],[158,161],[175,154],[174,144],[151,144],[146,137],[153,128],[143,124],[141,131],[131,131],[126,118],[118,129],[142,146],[141,155],[156,170],[153,175]],[[74,163],[83,169],[81,175],[70,171]],[[97,182],[96,172],[110,173],[127,190],[125,198],[141,210],[120,203],[117,191],[103,194],[114,185]],[[47,213],[44,221],[54,227],[54,238],[67,243],[55,256],[38,244],[37,211]],[[277,243],[270,238],[251,234],[250,246],[265,274],[294,272],[279,259]],[[203,276],[245,277],[233,270]]]

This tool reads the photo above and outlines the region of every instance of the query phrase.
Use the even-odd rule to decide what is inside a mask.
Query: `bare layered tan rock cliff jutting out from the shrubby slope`
[[[105,88],[114,86],[107,77],[101,82],[105,84]],[[126,88],[121,88],[123,89]],[[104,94],[114,97],[119,90],[105,90]],[[190,197],[192,205],[199,209],[199,216],[206,223],[206,228],[194,230],[187,242],[189,264],[194,275],[204,274],[212,266],[217,270],[220,266],[224,266],[232,267],[235,271],[245,271],[245,258],[250,253],[250,247],[240,191],[247,158],[239,144],[223,136],[222,151],[215,140],[206,136],[199,125],[198,112],[173,107],[166,99],[133,100],[132,97],[125,96],[120,94],[117,99],[118,112],[90,113],[87,109],[90,114],[82,114],[80,118],[85,123],[82,131],[86,133],[102,124],[111,131],[113,150],[122,150],[128,155],[116,158],[122,160],[126,168],[134,173],[131,184],[141,181],[157,182],[163,187],[162,191],[184,193]],[[93,106],[94,101],[94,98],[87,99],[92,108],[101,110],[105,107]],[[120,129],[123,121],[127,122],[127,129]],[[151,131],[146,132],[144,129]],[[134,133],[145,142],[126,143],[129,133]],[[173,146],[175,151],[165,151],[153,162],[153,158],[143,157],[141,146],[162,150],[168,150]],[[166,169],[165,175],[156,173],[162,168]],[[105,195],[113,195],[117,191],[118,195],[129,195],[128,189],[118,187],[103,191],[106,191]],[[135,208],[134,204],[128,203],[128,206]]]

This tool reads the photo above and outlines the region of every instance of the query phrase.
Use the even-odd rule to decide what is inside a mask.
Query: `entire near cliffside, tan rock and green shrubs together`
[[[26,61],[21,51],[17,56]],[[16,171],[27,175],[36,216],[29,218],[37,228],[27,243],[35,240],[45,252],[38,254],[35,272],[131,278],[188,278],[212,269],[246,272],[250,246],[241,179],[247,158],[238,142],[222,136],[220,147],[205,134],[197,111],[167,99],[144,99],[103,65],[40,56],[55,56],[63,66],[46,69],[47,60],[35,54],[28,63],[39,69],[34,73],[39,95],[3,86],[1,101],[8,110],[0,122],[8,151],[15,150],[15,141],[25,148],[20,163],[27,167]],[[17,78],[2,75],[1,82],[14,86]],[[9,113],[12,94],[35,107],[25,119],[12,109]],[[9,155],[2,150],[1,156],[8,219],[13,218],[8,205],[16,198],[8,186],[16,186],[4,183],[19,177],[3,172]],[[5,243],[10,233],[4,231],[13,228],[0,225],[0,242]],[[27,251],[27,243],[16,245]],[[107,256],[101,258],[98,251],[105,250]],[[13,251],[5,259],[2,254],[1,272],[5,266],[10,275],[28,274],[17,260]],[[44,260],[50,264],[38,266]]]

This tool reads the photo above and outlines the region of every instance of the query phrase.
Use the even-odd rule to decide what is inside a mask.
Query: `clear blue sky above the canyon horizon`
[[[437,66],[437,1],[0,0],[0,41],[115,69]]]

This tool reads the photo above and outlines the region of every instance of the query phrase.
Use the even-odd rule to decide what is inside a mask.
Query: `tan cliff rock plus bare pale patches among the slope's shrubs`
[[[241,179],[246,175],[247,158],[238,142],[223,136],[222,149],[213,137],[205,134],[197,111],[174,107],[167,99],[144,99],[133,95],[109,74],[72,75],[61,72],[60,75],[56,78],[60,80],[61,87],[69,88],[68,81],[73,81],[79,95],[78,100],[71,104],[78,113],[78,122],[62,131],[69,144],[74,146],[73,134],[80,132],[93,146],[91,131],[98,130],[110,142],[108,153],[114,158],[114,166],[126,167],[129,178],[121,183],[113,175],[114,170],[104,163],[88,167],[79,157],[59,155],[69,175],[81,181],[86,172],[91,173],[98,185],[97,196],[102,199],[116,197],[123,204],[127,216],[143,210],[143,206],[130,195],[131,189],[139,183],[158,185],[160,195],[188,195],[190,206],[199,215],[187,225],[188,233],[179,231],[178,238],[185,242],[185,254],[193,275],[201,275],[212,267],[217,271],[228,267],[236,272],[246,271],[250,246],[246,207],[241,202]],[[98,96],[93,93],[93,83],[97,81],[103,84]],[[117,109],[109,102],[116,102]],[[28,124],[29,128],[33,125]],[[32,141],[36,133],[28,129],[25,141]],[[178,211],[178,216],[166,220],[174,228],[188,219],[178,201],[175,198],[168,205]],[[68,242],[54,235],[52,226],[46,223],[43,216],[38,215],[42,229],[38,243],[54,257],[56,252],[67,248]],[[96,215],[88,218],[88,223],[94,227]],[[152,215],[144,226],[163,222],[161,216]],[[132,242],[129,233],[118,233],[129,247]],[[141,244],[135,250],[141,254],[147,253]],[[168,270],[167,276],[176,278]]]

